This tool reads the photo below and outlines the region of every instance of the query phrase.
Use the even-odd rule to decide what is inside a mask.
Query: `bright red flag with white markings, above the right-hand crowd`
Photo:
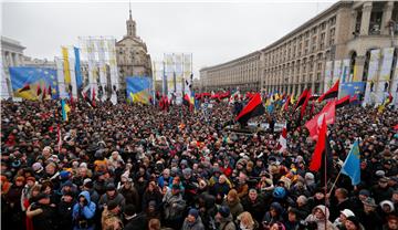
[[[325,107],[322,108],[321,113],[314,116],[314,118],[310,119],[305,123],[305,127],[310,132],[310,136],[313,139],[318,137],[318,129],[322,125],[322,117],[326,117],[326,124],[333,124],[335,122],[335,112],[336,112],[336,101],[328,102]]]

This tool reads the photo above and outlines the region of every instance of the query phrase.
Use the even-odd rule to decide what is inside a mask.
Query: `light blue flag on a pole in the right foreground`
[[[343,164],[342,174],[347,175],[352,179],[353,186],[360,182],[360,156],[358,140],[355,140],[353,148],[349,150],[348,156]]]

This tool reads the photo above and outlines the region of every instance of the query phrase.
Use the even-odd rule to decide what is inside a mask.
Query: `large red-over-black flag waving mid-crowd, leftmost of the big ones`
[[[238,114],[235,121],[241,125],[248,124],[248,121],[252,117],[260,116],[265,113],[265,107],[262,103],[260,93],[256,93],[252,96],[249,103],[243,107],[243,109]]]

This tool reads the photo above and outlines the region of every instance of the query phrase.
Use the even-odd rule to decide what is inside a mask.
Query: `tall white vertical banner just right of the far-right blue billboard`
[[[369,67],[367,73],[367,82],[365,90],[364,105],[376,103],[376,81],[379,65],[380,50],[370,51]]]

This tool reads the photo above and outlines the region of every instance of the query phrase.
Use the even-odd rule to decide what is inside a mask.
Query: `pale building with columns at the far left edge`
[[[0,98],[12,96],[9,67],[23,65],[23,50],[19,41],[1,36],[1,88]]]

